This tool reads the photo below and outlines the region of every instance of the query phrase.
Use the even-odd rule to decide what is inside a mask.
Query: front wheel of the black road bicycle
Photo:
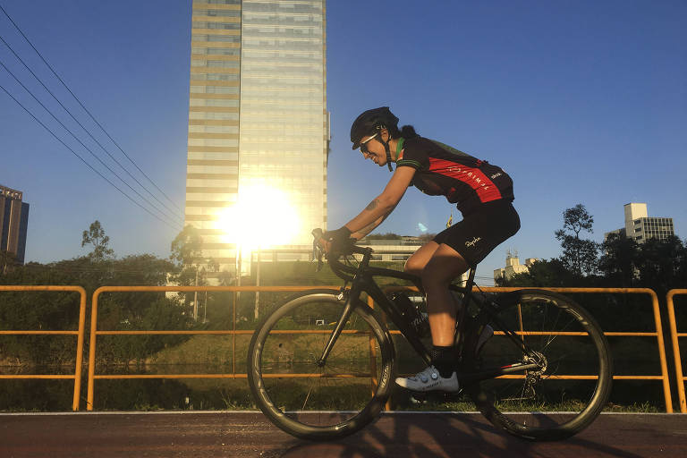
[[[348,436],[377,418],[390,393],[393,346],[386,327],[361,301],[354,302],[321,361],[344,305],[332,291],[301,293],[268,316],[250,342],[254,399],[269,420],[295,437]]]

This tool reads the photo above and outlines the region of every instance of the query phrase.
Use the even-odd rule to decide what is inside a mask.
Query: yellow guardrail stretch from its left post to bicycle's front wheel
[[[253,329],[236,329],[236,302],[233,307],[233,329],[212,331],[108,331],[98,330],[98,299],[101,293],[112,292],[147,292],[147,293],[192,293],[192,292],[299,292],[313,288],[335,289],[340,286],[102,286],[93,293],[90,315],[90,346],[89,346],[89,383],[86,408],[93,410],[95,396],[95,381],[97,379],[114,378],[246,378],[247,374],[236,373],[236,335],[252,335]],[[231,374],[96,374],[96,339],[98,335],[232,335]]]

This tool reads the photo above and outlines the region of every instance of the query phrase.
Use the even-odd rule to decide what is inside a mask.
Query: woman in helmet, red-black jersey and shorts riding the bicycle
[[[380,225],[409,186],[445,196],[462,213],[462,221],[438,233],[405,263],[404,270],[420,276],[427,294],[432,361],[414,377],[396,378],[396,384],[413,391],[456,392],[454,334],[463,310],[457,310],[448,285],[520,229],[512,204],[513,181],[500,167],[420,137],[410,125],[399,130],[398,118],[388,106],[360,114],[352,123],[351,141],[353,149],[360,148],[365,158],[388,166],[394,174],[358,216],[325,233],[322,244],[327,252],[345,250],[351,238],[360,240]]]

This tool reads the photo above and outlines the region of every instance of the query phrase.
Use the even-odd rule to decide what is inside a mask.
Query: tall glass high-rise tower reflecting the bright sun
[[[202,257],[327,226],[325,0],[193,0],[185,221]]]

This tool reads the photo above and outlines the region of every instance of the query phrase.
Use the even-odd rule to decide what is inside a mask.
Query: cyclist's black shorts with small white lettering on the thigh
[[[498,245],[520,229],[520,217],[511,202],[484,205],[462,221],[437,233],[434,242],[445,243],[475,267]]]

